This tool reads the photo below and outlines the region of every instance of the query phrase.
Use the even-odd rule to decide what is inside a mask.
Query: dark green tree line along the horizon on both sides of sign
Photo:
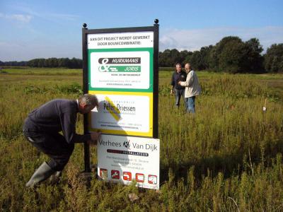
[[[221,39],[216,45],[202,47],[198,51],[166,49],[159,52],[159,66],[173,67],[176,63],[189,62],[196,70],[228,73],[283,72],[283,43],[273,44],[265,54],[258,38],[243,42],[236,36]],[[0,66],[30,66],[81,69],[82,60],[76,58],[31,59],[30,61],[0,61]]]

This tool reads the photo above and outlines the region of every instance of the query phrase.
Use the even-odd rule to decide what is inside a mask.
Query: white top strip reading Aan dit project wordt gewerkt
[[[88,35],[88,49],[154,47],[154,32],[101,33]]]

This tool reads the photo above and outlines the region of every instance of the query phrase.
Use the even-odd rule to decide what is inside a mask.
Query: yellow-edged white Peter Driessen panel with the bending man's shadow
[[[135,132],[140,136],[152,134],[152,94],[125,93],[111,95],[96,93],[98,109],[91,112],[91,129],[108,134],[127,134]]]

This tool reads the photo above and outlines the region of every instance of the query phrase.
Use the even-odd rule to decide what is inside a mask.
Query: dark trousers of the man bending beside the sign
[[[67,143],[64,136],[59,133],[42,134],[24,131],[23,134],[33,146],[49,156],[48,165],[52,170],[62,171],[64,169],[74,151],[74,143]]]

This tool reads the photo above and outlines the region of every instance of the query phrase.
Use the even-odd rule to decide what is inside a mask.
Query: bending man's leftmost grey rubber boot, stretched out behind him
[[[36,184],[42,182],[43,180],[47,179],[52,175],[54,170],[46,163],[42,163],[40,167],[33,173],[33,176],[30,177],[30,180],[25,184],[26,187],[35,187]]]

